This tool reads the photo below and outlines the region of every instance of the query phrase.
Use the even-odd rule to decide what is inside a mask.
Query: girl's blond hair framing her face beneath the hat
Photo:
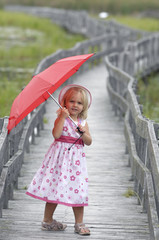
[[[80,88],[80,87],[72,87],[72,88],[69,88],[63,98],[62,98],[62,101],[61,101],[61,106],[64,107],[66,105],[66,102],[69,101],[72,97],[72,95],[75,93],[75,92],[79,92],[81,93],[81,96],[82,96],[82,105],[83,105],[83,110],[82,112],[79,114],[79,118],[82,118],[82,119],[86,119],[87,118],[87,111],[88,111],[88,97],[87,97],[87,93],[84,89]]]

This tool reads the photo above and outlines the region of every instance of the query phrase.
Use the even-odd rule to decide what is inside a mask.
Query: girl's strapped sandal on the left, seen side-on
[[[42,222],[41,229],[43,231],[64,231],[66,227],[66,224],[53,220],[52,223]]]

